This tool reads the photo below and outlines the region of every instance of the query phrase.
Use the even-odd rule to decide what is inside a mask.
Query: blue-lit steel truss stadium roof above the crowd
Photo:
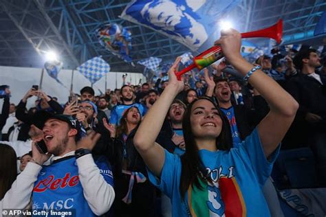
[[[134,62],[155,56],[171,60],[189,49],[147,27],[120,19],[126,0],[2,0],[0,1],[0,65],[43,67],[43,51],[56,50],[66,69],[102,56],[112,71],[140,71],[117,58],[98,43],[94,31],[106,23],[118,23],[132,33]],[[243,0],[225,14],[246,32],[268,27],[283,19],[287,44],[302,41],[322,44],[314,27],[326,10],[323,0]]]

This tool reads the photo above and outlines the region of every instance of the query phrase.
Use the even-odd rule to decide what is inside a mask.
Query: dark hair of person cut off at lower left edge
[[[17,178],[16,152],[5,144],[0,144],[0,174],[0,200],[2,200]]]

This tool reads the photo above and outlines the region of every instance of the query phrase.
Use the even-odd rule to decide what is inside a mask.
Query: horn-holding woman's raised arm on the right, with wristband
[[[254,66],[242,58],[240,54],[241,35],[235,30],[222,32],[219,41],[223,53],[230,64],[243,76],[246,76]],[[258,131],[265,156],[269,157],[281,142],[293,122],[298,109],[298,103],[263,71],[257,70],[250,76],[248,82],[261,93],[270,104],[270,113],[259,123]]]

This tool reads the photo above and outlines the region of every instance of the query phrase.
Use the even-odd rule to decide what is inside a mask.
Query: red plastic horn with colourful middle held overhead
[[[277,43],[281,43],[282,33],[283,21],[280,19],[275,25],[267,27],[263,30],[241,33],[241,38],[273,38]],[[193,64],[175,73],[175,75],[177,76],[177,80],[181,80],[181,76],[184,73],[191,71],[191,69],[197,68],[200,71],[211,65],[213,62],[216,62],[223,56],[224,55],[221,47],[210,47],[210,49],[207,49],[206,51],[202,52],[202,54],[195,56],[193,58]]]

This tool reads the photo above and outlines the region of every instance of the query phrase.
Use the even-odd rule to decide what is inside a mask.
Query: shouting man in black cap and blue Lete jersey
[[[34,122],[43,130],[43,140],[52,157],[35,182],[33,209],[65,209],[75,216],[105,214],[115,193],[109,163],[104,157],[91,155],[100,135],[89,130],[80,139],[80,125],[70,115],[40,111]]]

